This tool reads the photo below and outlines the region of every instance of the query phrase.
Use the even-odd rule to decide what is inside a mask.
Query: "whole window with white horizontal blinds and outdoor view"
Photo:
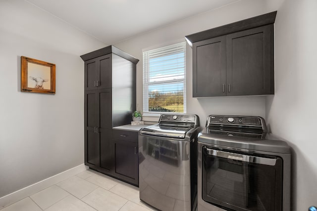
[[[186,113],[186,42],[143,52],[143,111]]]

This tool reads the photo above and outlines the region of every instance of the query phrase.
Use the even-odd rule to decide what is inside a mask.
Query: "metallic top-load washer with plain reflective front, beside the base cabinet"
[[[162,114],[139,132],[140,199],[162,211],[197,209],[197,115]]]

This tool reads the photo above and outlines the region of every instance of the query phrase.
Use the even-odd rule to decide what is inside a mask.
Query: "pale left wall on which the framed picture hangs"
[[[0,197],[84,163],[84,62],[105,46],[24,0],[0,1]],[[56,94],[20,91],[27,56],[56,64]]]

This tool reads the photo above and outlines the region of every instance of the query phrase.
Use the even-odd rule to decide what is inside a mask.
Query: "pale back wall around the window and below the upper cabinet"
[[[186,35],[211,29],[224,24],[261,15],[276,10],[281,0],[241,0],[227,6],[205,12],[166,27],[145,33],[115,45],[140,59],[137,64],[137,105],[143,108],[142,97],[142,49],[158,47],[185,40]],[[192,97],[192,49],[187,45],[187,113],[197,114],[201,125],[211,114],[254,115],[265,118],[265,97]],[[144,118],[158,121],[158,118]]]

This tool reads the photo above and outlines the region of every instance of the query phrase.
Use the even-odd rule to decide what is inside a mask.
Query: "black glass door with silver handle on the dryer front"
[[[282,159],[203,147],[203,199],[233,211],[282,210]]]

